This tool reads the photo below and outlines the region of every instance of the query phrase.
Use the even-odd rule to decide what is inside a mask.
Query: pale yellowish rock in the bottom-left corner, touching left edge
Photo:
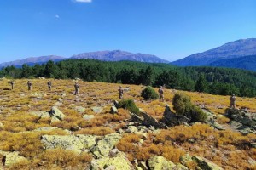
[[[26,157],[23,157],[23,156],[19,156],[19,152],[18,151],[15,151],[15,152],[7,152],[7,151],[2,151],[0,150],[0,155],[2,156],[6,156],[6,159],[5,159],[5,166],[6,167],[10,167],[12,166],[13,164],[15,163],[18,163],[20,161],[28,161],[26,159]]]

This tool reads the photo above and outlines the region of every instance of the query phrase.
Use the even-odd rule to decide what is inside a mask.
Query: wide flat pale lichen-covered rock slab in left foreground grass
[[[41,137],[41,142],[44,144],[44,150],[61,148],[80,154],[96,145],[96,138],[97,136],[92,135],[44,135]]]

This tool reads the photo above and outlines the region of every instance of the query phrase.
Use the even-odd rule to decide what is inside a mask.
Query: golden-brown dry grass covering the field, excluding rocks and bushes
[[[113,100],[119,100],[118,88],[120,84],[106,82],[79,82],[79,95],[74,95],[73,80],[51,80],[52,90],[47,87],[48,80],[32,79],[32,90],[27,90],[27,79],[15,80],[15,88],[11,88],[9,80],[0,82],[0,150],[20,151],[20,156],[25,156],[28,161],[20,162],[6,169],[83,169],[90,164],[92,156],[82,154],[76,156],[67,150],[43,150],[40,136],[43,134],[66,135],[67,130],[74,127],[82,129],[73,131],[76,134],[105,135],[115,133],[124,127],[129,119],[128,111],[119,109],[118,114],[110,114]],[[165,106],[172,108],[172,97],[177,92],[175,89],[165,89],[165,102],[158,100],[144,101],[140,96],[143,86],[121,85],[131,90],[124,93],[125,99],[134,99],[136,105],[142,108],[150,116],[160,119],[165,111]],[[157,88],[154,88],[157,91]],[[191,97],[196,105],[205,105],[212,113],[224,114],[224,110],[230,105],[230,96],[201,94],[196,92],[183,92]],[[63,95],[64,94],[64,95]],[[66,95],[65,95],[66,94]],[[51,123],[49,119],[40,120],[29,114],[31,111],[49,111],[56,102],[62,105],[58,108],[66,115],[62,122]],[[237,108],[247,108],[249,112],[256,112],[255,98],[236,97]],[[74,110],[75,106],[83,106],[84,113]],[[92,107],[103,108],[101,113],[92,111]],[[95,118],[86,121],[83,115],[94,115]],[[226,123],[228,118],[220,118],[218,122]],[[111,125],[111,126],[109,126]],[[34,132],[38,127],[59,127],[50,132]],[[26,132],[26,133],[22,133]],[[185,153],[196,156],[204,156],[224,169],[256,169],[248,163],[248,159],[256,160],[256,149],[249,148],[245,143],[256,139],[255,134],[246,136],[232,131],[218,131],[205,124],[195,124],[192,127],[178,126],[159,133],[148,133],[148,138],[143,144],[138,144],[143,137],[128,133],[123,136],[116,147],[124,151],[128,159],[134,163],[146,161],[149,156],[161,155],[168,160],[179,162],[180,156]],[[193,139],[193,142],[190,140]],[[0,156],[1,158],[1,156]],[[55,166],[53,167],[53,164]],[[188,165],[195,169],[195,165]]]

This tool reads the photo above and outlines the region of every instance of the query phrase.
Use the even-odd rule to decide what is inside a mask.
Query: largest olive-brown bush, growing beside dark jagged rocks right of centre
[[[207,119],[207,114],[201,111],[201,108],[192,104],[189,96],[185,94],[175,94],[172,105],[177,115],[188,117],[190,122],[205,122]]]

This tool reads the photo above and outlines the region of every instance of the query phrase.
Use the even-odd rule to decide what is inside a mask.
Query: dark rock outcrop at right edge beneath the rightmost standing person
[[[230,127],[241,133],[256,133],[256,114],[244,110],[227,109],[225,116],[230,118]]]

